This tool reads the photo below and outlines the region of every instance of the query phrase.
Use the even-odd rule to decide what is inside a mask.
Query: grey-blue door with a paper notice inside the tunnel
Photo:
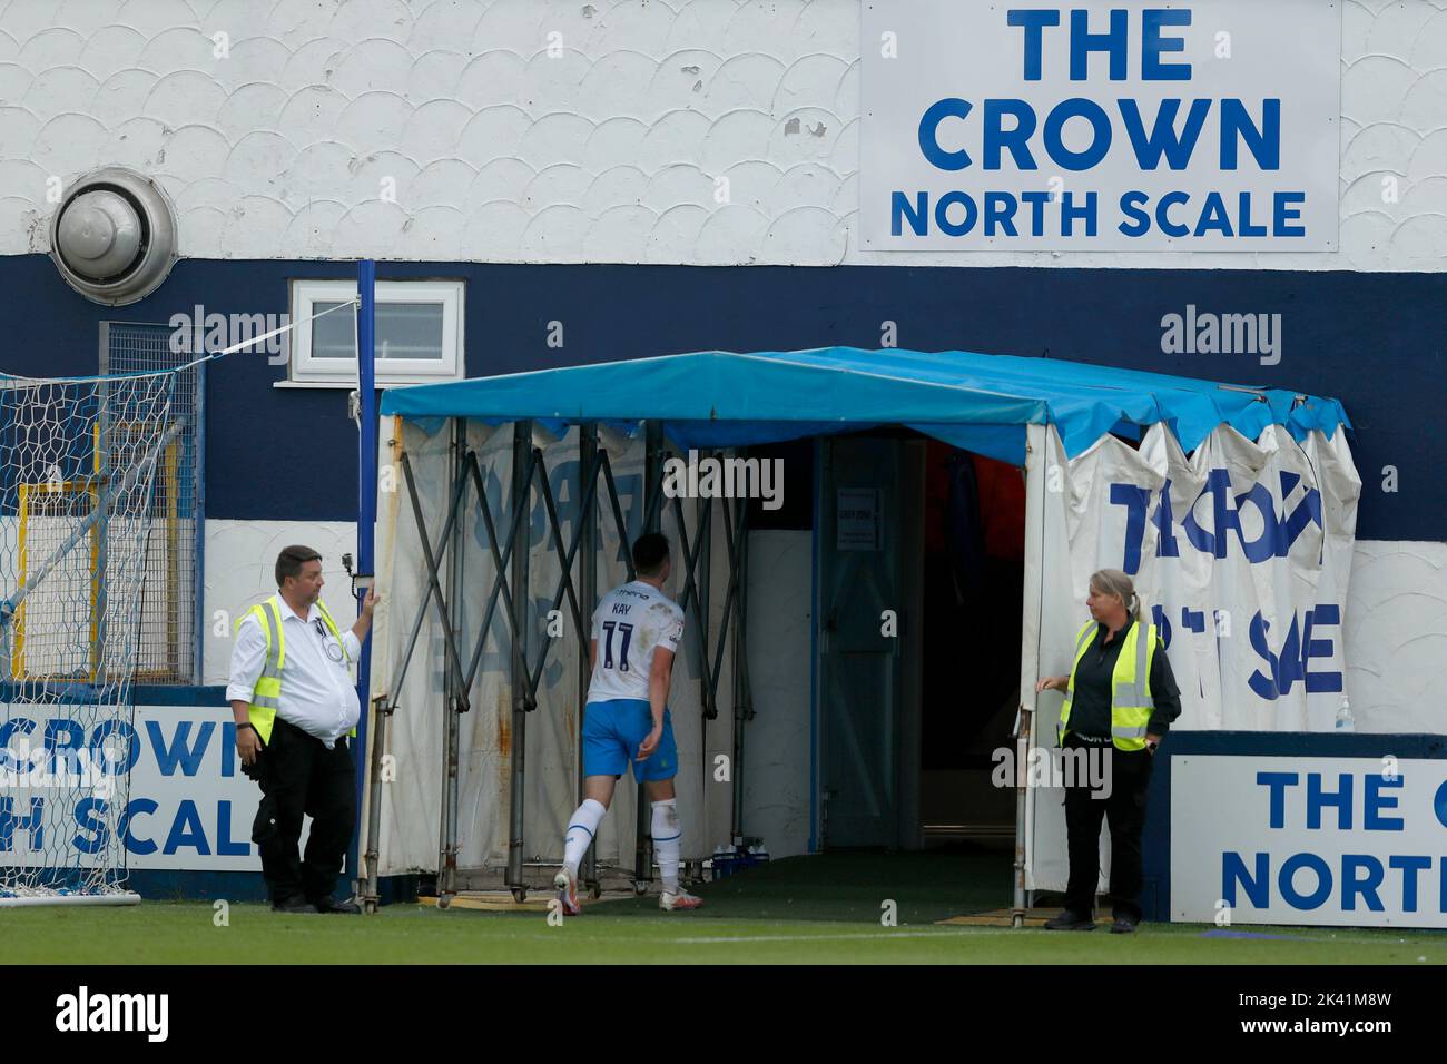
[[[923,453],[886,436],[822,443],[819,848],[919,844]]]

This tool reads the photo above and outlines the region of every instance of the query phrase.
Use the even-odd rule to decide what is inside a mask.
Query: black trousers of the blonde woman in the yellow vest
[[[1074,734],[1065,747],[1081,748]],[[1100,748],[1097,748],[1100,750]],[[1110,757],[1110,795],[1092,798],[1097,790],[1084,780],[1065,788],[1065,831],[1071,856],[1071,876],[1065,887],[1065,908],[1077,916],[1091,916],[1095,909],[1095,884],[1100,882],[1100,821],[1110,822],[1110,908],[1111,916],[1140,919],[1140,829],[1146,824],[1146,788],[1155,754],[1149,750],[1124,751],[1106,746]],[[1095,751],[1090,751],[1094,754]]]

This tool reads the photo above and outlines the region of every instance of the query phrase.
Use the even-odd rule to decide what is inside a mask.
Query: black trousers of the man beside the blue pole
[[[243,772],[262,788],[252,841],[272,902],[330,898],[356,822],[356,769],[346,737],[327,750],[278,717],[271,743]],[[302,814],[311,816],[311,834],[298,860]]]

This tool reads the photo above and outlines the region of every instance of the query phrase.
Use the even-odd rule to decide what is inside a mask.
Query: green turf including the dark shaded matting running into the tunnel
[[[994,856],[828,856],[777,861],[697,887],[705,908],[657,899],[590,903],[551,926],[546,912],[389,905],[376,916],[282,916],[210,902],[0,909],[10,964],[1441,964],[1447,932],[1143,924],[1134,935],[936,921],[1009,905]],[[546,898],[532,895],[530,900]],[[886,900],[897,926],[881,926]]]

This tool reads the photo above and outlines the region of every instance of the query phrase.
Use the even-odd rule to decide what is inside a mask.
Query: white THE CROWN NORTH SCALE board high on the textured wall
[[[1341,7],[870,0],[870,250],[1334,250]]]

